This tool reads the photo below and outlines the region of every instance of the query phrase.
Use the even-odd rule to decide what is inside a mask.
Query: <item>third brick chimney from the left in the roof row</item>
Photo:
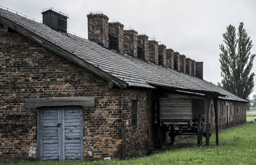
[[[138,32],[134,30],[124,30],[124,53],[134,58],[138,58]]]

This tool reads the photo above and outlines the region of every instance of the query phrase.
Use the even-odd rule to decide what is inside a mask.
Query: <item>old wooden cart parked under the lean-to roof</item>
[[[166,134],[171,144],[175,136],[196,135],[198,145],[202,145],[205,130],[205,100],[195,98],[159,98],[159,129],[161,146],[166,143]]]

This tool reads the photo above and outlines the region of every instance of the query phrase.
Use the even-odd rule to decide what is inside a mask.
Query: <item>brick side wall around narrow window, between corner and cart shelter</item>
[[[136,155],[138,152],[148,152],[154,148],[154,95],[147,90],[122,91],[123,125],[123,158]],[[138,100],[138,127],[132,127],[131,100]]]

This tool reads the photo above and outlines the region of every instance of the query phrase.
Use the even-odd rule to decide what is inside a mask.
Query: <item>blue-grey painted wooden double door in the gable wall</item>
[[[38,115],[40,160],[83,159],[83,108],[43,107]]]

